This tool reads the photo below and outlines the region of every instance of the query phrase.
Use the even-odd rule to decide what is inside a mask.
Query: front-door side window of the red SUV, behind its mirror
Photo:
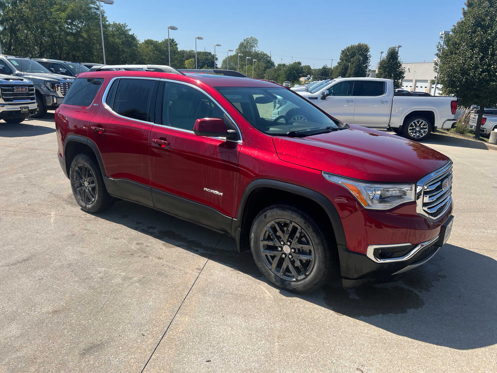
[[[178,83],[166,83],[162,124],[192,130],[199,118],[221,118],[224,112],[204,93]]]

